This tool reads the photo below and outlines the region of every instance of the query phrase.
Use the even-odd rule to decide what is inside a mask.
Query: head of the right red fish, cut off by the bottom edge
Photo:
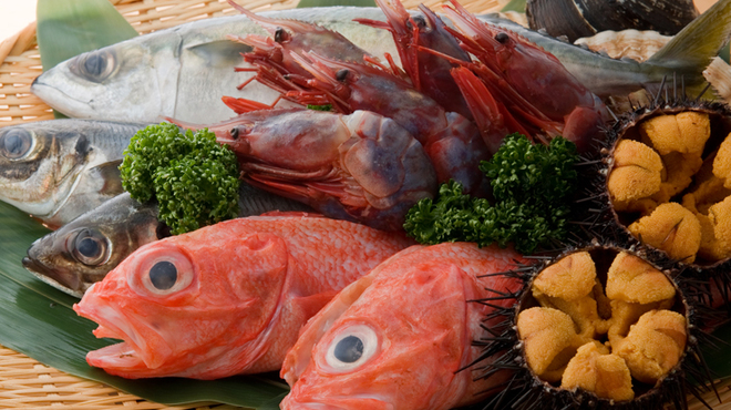
[[[300,334],[281,370],[292,385],[282,409],[446,409],[473,399],[472,375],[459,370],[480,324],[467,303],[480,294],[474,276],[445,263],[373,274],[310,321],[327,330],[308,324]]]

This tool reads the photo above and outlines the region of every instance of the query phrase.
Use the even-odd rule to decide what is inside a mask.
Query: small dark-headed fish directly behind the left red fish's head
[[[274,211],[311,209],[240,183],[239,217]],[[167,236],[169,228],[157,219],[157,205],[141,204],[124,193],[35,240],[23,266],[47,284],[81,298],[138,247]]]

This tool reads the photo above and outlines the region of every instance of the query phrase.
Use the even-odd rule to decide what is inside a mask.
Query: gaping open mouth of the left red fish
[[[86,353],[86,362],[125,378],[153,377],[155,369],[166,361],[172,349],[164,341],[161,342],[162,338],[151,340],[150,335],[143,336],[133,325],[138,321],[133,314],[111,306],[93,291],[94,286],[92,285],[81,301],[73,306],[73,310],[79,316],[99,324],[93,331],[97,338],[123,341],[90,351]],[[154,344],[154,347],[151,344]]]

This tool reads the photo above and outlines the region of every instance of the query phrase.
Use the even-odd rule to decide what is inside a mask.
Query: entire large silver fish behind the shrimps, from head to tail
[[[373,55],[389,52],[399,61],[387,30],[352,21],[384,21],[378,8],[295,9],[261,14],[321,24]],[[689,86],[701,83],[703,69],[729,38],[731,0],[720,0],[644,63],[603,57],[494,16],[478,18],[535,42],[556,55],[593,93],[606,98],[657,86],[673,73]],[[225,95],[267,104],[276,101],[276,92],[256,82],[236,90],[253,75],[233,69],[245,65],[239,53],[250,48],[227,40],[228,34],[265,32],[244,16],[181,24],[68,60],[39,76],[31,91],[70,116],[116,121],[156,122],[169,116],[210,123],[231,116],[220,101]]]

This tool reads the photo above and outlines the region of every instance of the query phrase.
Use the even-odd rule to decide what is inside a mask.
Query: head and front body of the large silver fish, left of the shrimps
[[[315,22],[342,33],[373,55],[395,55],[388,32],[352,21],[357,17],[383,19],[377,8],[294,9],[261,16]],[[253,75],[234,71],[245,65],[240,53],[251,48],[228,40],[229,34],[264,35],[266,31],[246,16],[189,22],[70,59],[40,75],[31,90],[73,117],[227,120],[234,113],[222,102],[224,95],[264,103],[278,96],[256,82],[236,90]]]

